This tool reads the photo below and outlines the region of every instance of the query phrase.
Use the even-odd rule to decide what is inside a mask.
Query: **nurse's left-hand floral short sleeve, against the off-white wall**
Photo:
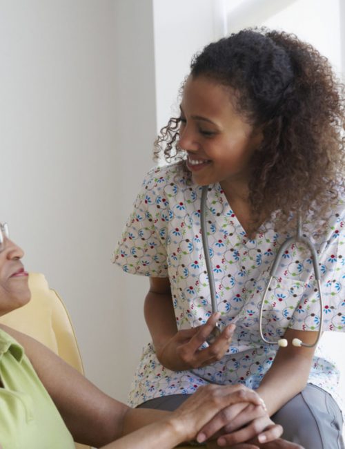
[[[157,178],[158,177],[158,178]],[[133,211],[115,249],[113,262],[131,274],[168,277],[164,229],[157,229],[152,207],[159,196],[159,168],[146,175]]]

